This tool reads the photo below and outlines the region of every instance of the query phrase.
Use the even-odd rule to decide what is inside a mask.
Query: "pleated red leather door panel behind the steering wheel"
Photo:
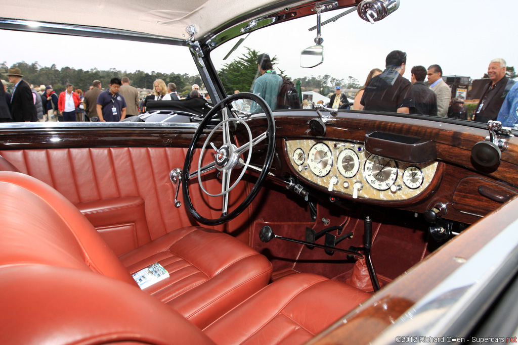
[[[182,206],[175,207],[176,186],[169,179],[172,169],[183,168],[186,151],[179,147],[116,147],[9,150],[0,151],[0,155],[9,163],[10,171],[17,169],[36,177],[72,203],[141,197],[145,200],[150,237],[155,239],[178,228],[198,225],[186,213],[181,192],[178,197]],[[193,158],[192,170],[197,166],[197,157]],[[191,182],[191,200],[198,212],[207,218],[219,217],[220,198],[207,198],[197,184],[197,179]],[[218,184],[221,188],[220,182],[212,179],[206,187]],[[231,192],[231,204],[245,197],[246,184],[240,183]],[[247,242],[248,226],[248,214],[243,212],[231,223],[214,229],[242,234],[241,239]]]

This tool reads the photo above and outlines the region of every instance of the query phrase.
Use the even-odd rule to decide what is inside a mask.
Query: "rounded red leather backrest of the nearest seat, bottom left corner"
[[[3,344],[214,345],[139,288],[80,269],[0,267]]]

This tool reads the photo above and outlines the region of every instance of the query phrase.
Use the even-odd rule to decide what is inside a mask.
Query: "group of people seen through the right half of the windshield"
[[[390,52],[383,71],[370,71],[364,88],[355,97],[353,109],[448,117],[448,111],[462,103],[452,99],[450,86],[442,78],[441,66],[433,64],[428,69],[414,66],[409,81],[403,77],[406,62],[406,53]],[[497,120],[504,126],[512,126],[518,121],[518,87],[506,76],[506,70],[504,59],[495,58],[490,62],[487,68],[489,80],[482,89],[473,121]],[[425,83],[426,77],[428,83]]]

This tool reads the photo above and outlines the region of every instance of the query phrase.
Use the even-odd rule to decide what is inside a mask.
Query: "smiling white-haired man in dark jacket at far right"
[[[502,58],[491,61],[487,67],[487,75],[490,81],[484,87],[474,118],[474,121],[482,123],[496,120],[503,100],[514,84],[513,80],[506,77],[506,61]]]

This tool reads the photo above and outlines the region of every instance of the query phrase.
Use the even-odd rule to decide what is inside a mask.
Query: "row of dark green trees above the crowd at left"
[[[138,88],[153,89],[153,82],[155,79],[162,79],[165,83],[175,83],[178,93],[187,95],[191,92],[193,84],[202,85],[202,78],[197,74],[190,76],[187,73],[162,73],[151,71],[151,73],[136,70],[135,72],[120,71],[115,68],[109,70],[98,70],[92,68],[90,70],[75,69],[71,67],[62,67],[57,69],[56,65],[50,67],[42,67],[38,62],[28,64],[25,61],[18,62],[12,66],[7,66],[4,61],[0,65],[0,74],[2,79],[7,80],[5,73],[10,67],[20,68],[23,74],[23,79],[34,86],[52,85],[56,92],[65,91],[67,83],[73,84],[75,88],[80,88],[87,91],[94,80],[99,80],[103,87],[106,88],[111,78],[130,78],[131,84]]]

